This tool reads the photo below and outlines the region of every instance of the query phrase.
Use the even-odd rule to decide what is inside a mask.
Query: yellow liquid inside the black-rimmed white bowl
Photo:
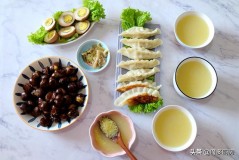
[[[209,92],[212,75],[203,63],[188,61],[179,66],[176,82],[184,94],[192,98],[200,98]]]

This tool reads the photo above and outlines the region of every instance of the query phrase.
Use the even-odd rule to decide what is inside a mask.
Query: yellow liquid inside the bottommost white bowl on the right
[[[192,134],[192,124],[181,110],[170,108],[163,111],[155,121],[157,139],[167,147],[184,145]]]

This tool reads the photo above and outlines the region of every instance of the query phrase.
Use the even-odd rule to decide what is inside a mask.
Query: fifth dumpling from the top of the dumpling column
[[[117,82],[129,82],[129,81],[139,81],[148,78],[155,73],[159,72],[159,68],[154,67],[153,69],[136,69],[128,71],[126,74],[121,74],[118,76]]]

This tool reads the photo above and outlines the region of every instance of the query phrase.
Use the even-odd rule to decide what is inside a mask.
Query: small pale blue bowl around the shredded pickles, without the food
[[[107,55],[107,58],[106,58],[106,63],[100,67],[100,68],[93,68],[92,66],[88,65],[87,63],[84,62],[83,58],[82,58],[82,54],[84,52],[86,52],[87,50],[89,50],[93,45],[96,45],[96,44],[101,44],[101,46],[105,49],[105,50],[108,50],[108,55]],[[107,47],[107,45],[100,41],[100,40],[96,40],[96,39],[91,39],[91,40],[87,40],[85,42],[83,42],[78,50],[77,50],[77,61],[80,65],[80,67],[87,71],[87,72],[100,72],[102,71],[103,69],[106,68],[106,66],[109,64],[110,62],[110,51]]]

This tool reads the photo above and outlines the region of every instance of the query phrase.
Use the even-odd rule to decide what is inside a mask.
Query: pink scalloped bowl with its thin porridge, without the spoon
[[[132,146],[136,138],[132,120],[119,111],[111,110],[97,115],[89,129],[91,146],[93,149],[106,157],[124,155],[125,151],[120,147],[120,145],[107,138],[100,130],[99,121],[102,117],[109,117],[116,122],[123,142],[128,148]]]

